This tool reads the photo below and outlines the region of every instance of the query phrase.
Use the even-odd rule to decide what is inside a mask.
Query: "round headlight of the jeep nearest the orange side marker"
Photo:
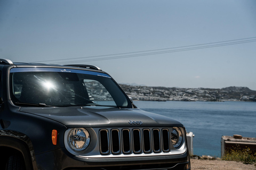
[[[84,150],[90,143],[90,134],[83,128],[71,129],[68,133],[68,143],[76,151]]]

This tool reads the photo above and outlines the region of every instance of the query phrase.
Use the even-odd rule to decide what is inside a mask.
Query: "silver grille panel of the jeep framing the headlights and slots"
[[[84,158],[144,157],[183,154],[187,151],[185,129],[182,144],[177,149],[171,142],[173,127],[168,128],[85,128],[91,142],[83,151],[72,150],[65,140],[66,149],[73,155]],[[65,139],[71,129],[65,132]],[[155,133],[155,134],[154,134]]]

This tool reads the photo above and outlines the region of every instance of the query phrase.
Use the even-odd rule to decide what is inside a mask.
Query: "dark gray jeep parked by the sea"
[[[190,169],[184,126],[98,67],[0,61],[0,169]]]

